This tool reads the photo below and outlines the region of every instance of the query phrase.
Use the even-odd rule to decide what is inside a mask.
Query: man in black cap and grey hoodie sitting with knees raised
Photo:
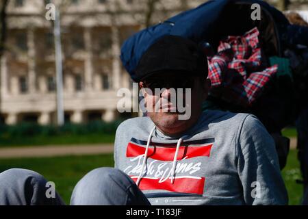
[[[71,205],[287,204],[274,141],[259,120],[202,112],[210,81],[206,57],[194,42],[160,38],[142,56],[136,75],[147,116],[118,127],[116,168],[84,176]],[[165,89],[157,94],[155,88]],[[177,88],[187,89],[183,94]],[[185,112],[172,99],[174,90]],[[27,171],[0,174],[0,204],[62,203],[60,196],[48,201],[44,179]]]

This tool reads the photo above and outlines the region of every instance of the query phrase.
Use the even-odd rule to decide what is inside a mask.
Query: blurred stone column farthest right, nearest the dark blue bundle
[[[118,27],[112,26],[112,88],[118,90],[121,87],[120,67],[120,39]]]

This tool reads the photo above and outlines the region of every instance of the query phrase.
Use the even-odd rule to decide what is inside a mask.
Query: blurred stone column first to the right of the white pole
[[[93,88],[93,53],[91,43],[91,29],[86,27],[84,29],[84,42],[86,47],[86,60],[84,62],[84,79],[85,79],[85,90],[91,91]]]

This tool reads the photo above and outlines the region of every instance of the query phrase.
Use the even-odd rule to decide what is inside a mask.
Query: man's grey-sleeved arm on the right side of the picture
[[[274,140],[255,116],[246,116],[239,130],[237,157],[247,205],[287,205]]]

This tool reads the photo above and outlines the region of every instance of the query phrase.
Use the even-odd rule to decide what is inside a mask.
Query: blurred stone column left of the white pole
[[[28,77],[29,77],[29,93],[36,92],[36,49],[34,29],[29,28],[27,30],[27,45],[28,45]]]

